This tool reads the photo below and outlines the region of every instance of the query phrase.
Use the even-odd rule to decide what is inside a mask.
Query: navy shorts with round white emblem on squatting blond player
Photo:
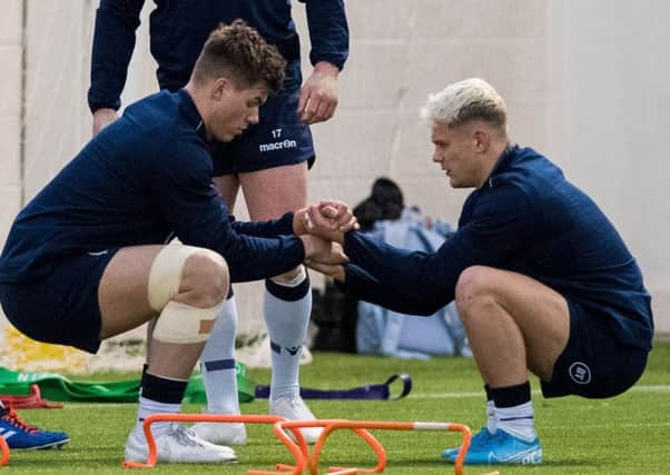
[[[570,301],[570,337],[554,365],[544,397],[612,397],[630,388],[647,366],[648,350],[622,345],[607,316]]]

